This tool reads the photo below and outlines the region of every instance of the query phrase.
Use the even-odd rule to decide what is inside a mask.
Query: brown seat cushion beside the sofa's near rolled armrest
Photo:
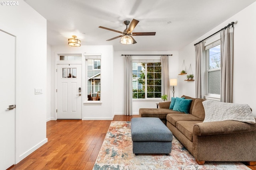
[[[186,137],[193,142],[193,127],[196,123],[203,121],[177,121],[176,128]]]

